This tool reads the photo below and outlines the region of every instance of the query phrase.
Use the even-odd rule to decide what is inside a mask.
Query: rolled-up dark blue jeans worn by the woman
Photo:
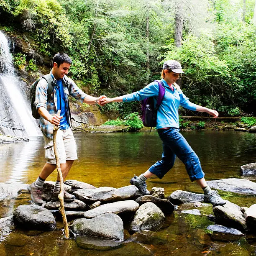
[[[186,139],[179,133],[177,128],[158,129],[163,141],[162,160],[157,161],[148,170],[162,179],[164,175],[172,169],[175,156],[185,164],[187,173],[191,181],[205,177],[197,154],[193,151]]]

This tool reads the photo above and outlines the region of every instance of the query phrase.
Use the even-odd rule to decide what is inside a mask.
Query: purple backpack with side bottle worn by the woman
[[[154,97],[148,97],[141,100],[141,111],[143,125],[147,127],[156,127],[156,115],[159,106],[164,98],[165,88],[161,80],[155,80],[158,82],[159,92],[157,97],[156,106],[154,105]]]

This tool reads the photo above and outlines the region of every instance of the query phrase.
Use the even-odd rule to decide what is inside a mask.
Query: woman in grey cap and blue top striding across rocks
[[[146,172],[140,176],[135,176],[131,179],[130,183],[135,185],[141,193],[149,195],[147,190],[146,180],[153,175],[160,179],[172,169],[175,161],[175,156],[185,164],[187,173],[191,181],[196,181],[197,184],[204,191],[204,201],[212,205],[225,205],[225,201],[218,195],[218,192],[211,190],[205,182],[205,174],[202,171],[201,164],[198,156],[189,146],[185,138],[179,133],[179,105],[189,110],[206,112],[213,116],[218,117],[216,110],[204,108],[189,102],[189,99],[182,93],[180,88],[174,87],[173,84],[179,79],[181,73],[184,73],[178,61],[169,60],[165,61],[161,73],[161,81],[165,87],[164,99],[157,112],[156,128],[163,142],[162,160],[153,164]],[[158,96],[159,85],[157,82],[148,84],[145,88],[133,92],[131,94],[123,95],[115,98],[102,99],[102,105],[109,102],[129,102],[134,100],[143,100],[146,97]],[[156,99],[155,99],[156,103]]]

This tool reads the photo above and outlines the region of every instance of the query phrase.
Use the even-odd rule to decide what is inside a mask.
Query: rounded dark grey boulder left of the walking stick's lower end
[[[56,221],[52,213],[38,205],[20,205],[14,213],[15,223],[25,229],[54,230]]]

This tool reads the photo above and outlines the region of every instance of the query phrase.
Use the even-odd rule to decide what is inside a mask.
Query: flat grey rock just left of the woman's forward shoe
[[[203,194],[195,194],[183,190],[176,190],[171,195],[169,195],[168,200],[174,205],[180,205],[185,202],[203,202]]]

